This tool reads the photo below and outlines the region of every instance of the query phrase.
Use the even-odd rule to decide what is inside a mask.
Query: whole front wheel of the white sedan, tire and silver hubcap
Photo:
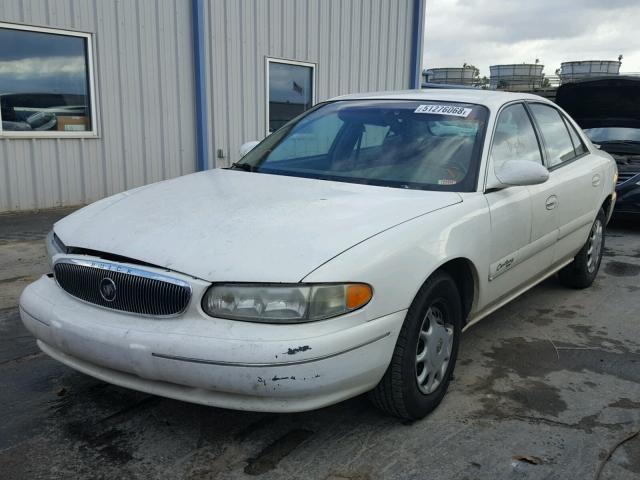
[[[370,393],[376,407],[415,420],[438,406],[458,356],[461,304],[448,273],[436,272],[425,282],[409,307],[391,363]]]

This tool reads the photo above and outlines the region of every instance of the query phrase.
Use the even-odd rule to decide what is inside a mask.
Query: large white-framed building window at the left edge
[[[0,23],[0,135],[96,135],[91,35]]]

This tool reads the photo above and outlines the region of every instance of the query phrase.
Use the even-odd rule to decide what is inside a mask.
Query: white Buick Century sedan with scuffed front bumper
[[[533,95],[349,95],[244,150],[56,223],[20,299],[40,348],[188,402],[420,418],[465,328],[556,272],[591,285],[615,202],[613,159]]]

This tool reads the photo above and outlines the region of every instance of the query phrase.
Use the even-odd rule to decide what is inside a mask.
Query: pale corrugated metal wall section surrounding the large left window
[[[0,211],[90,203],[194,170],[190,11],[187,0],[1,0],[1,22],[95,34],[100,138],[0,138]]]

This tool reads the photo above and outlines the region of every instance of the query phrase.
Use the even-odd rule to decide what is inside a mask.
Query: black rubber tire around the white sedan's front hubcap
[[[436,369],[436,377],[441,375],[437,387],[425,393],[426,386],[418,384],[418,373],[421,370],[417,364],[417,355],[420,346],[423,351],[427,351],[425,341],[421,340],[421,332],[427,314],[433,319],[436,308],[442,313],[440,318],[446,331],[452,331],[453,341],[448,364],[445,367],[443,363],[440,369]],[[442,324],[438,322],[438,325]],[[462,302],[458,287],[451,275],[436,272],[425,282],[409,307],[389,367],[380,383],[369,394],[372,403],[383,412],[405,420],[423,418],[433,411],[444,398],[451,381],[461,332]],[[449,339],[448,336],[446,338]],[[441,343],[438,345],[442,346]],[[427,369],[426,363],[422,368]],[[441,371],[445,368],[442,375]],[[426,378],[428,381],[429,374]]]

